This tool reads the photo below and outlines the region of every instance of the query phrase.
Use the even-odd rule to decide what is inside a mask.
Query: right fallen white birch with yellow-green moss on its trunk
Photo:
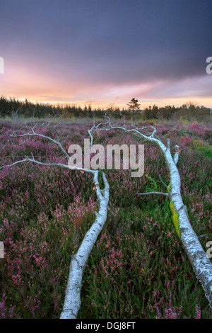
[[[158,145],[160,150],[163,152],[165,157],[165,163],[167,169],[170,173],[170,184],[167,186],[167,193],[158,192],[148,192],[148,193],[137,193],[138,195],[165,195],[170,199],[170,210],[172,212],[172,220],[175,225],[175,229],[179,239],[182,241],[185,252],[189,258],[192,268],[196,275],[196,278],[201,283],[204,288],[204,292],[210,307],[212,307],[212,264],[208,259],[206,252],[199,242],[199,237],[194,232],[192,225],[189,222],[189,216],[187,214],[187,207],[184,205],[181,196],[181,181],[179,176],[179,171],[177,169],[177,162],[180,154],[180,147],[175,146],[174,157],[172,157],[170,140],[167,140],[167,146],[163,144],[160,138],[156,135],[157,130],[153,126],[144,126],[139,128],[139,126],[131,125],[131,128],[126,128],[122,126],[112,126],[110,118],[105,115],[105,123],[102,125],[94,126],[96,130],[104,130],[105,132],[110,130],[122,130],[126,133],[136,135],[143,140],[155,143]],[[143,134],[146,129],[151,128],[151,132]],[[164,183],[163,183],[164,184]]]

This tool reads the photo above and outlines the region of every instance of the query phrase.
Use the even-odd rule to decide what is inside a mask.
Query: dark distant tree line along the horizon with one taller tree
[[[211,117],[211,109],[205,106],[198,106],[195,103],[185,103],[182,106],[163,106],[158,107],[156,105],[148,106],[144,110],[140,109],[139,101],[136,98],[132,98],[127,109],[110,104],[107,107],[107,112],[111,111],[114,118],[124,118],[131,120],[131,118],[142,120],[196,120],[207,121]],[[103,118],[105,116],[105,110],[101,108],[92,108],[89,104],[84,108],[76,105],[52,105],[50,103],[33,103],[25,99],[25,101],[19,101],[16,98],[0,97],[0,116],[1,117],[23,117],[23,118],[45,118],[47,116],[60,116],[64,118]]]

